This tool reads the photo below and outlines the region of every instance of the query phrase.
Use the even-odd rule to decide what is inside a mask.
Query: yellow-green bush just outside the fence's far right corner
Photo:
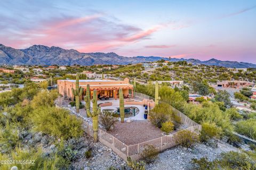
[[[221,132],[221,128],[219,128],[215,123],[204,122],[202,123],[200,140],[202,142],[207,142],[212,138],[219,138]]]

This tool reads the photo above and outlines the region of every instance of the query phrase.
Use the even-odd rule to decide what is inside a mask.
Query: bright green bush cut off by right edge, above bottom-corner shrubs
[[[256,139],[256,119],[239,121],[236,123],[236,132],[246,135],[249,138]]]

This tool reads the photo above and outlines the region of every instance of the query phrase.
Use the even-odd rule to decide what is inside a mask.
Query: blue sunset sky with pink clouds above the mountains
[[[256,1],[1,0],[0,44],[256,63]]]

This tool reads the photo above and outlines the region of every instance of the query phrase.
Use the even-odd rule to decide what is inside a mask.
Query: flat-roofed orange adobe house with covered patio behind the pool
[[[67,99],[73,99],[72,88],[76,88],[76,80],[58,80],[58,91],[59,94]],[[117,80],[79,80],[79,87],[84,88],[82,99],[86,96],[87,84],[90,85],[90,97],[92,98],[93,90],[97,90],[97,96],[101,100],[119,97],[119,89],[123,90],[125,98],[133,97],[133,85],[129,83],[129,79],[123,81]],[[129,95],[129,90],[130,94]]]

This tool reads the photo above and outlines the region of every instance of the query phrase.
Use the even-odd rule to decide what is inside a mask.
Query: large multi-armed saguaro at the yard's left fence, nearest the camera
[[[89,86],[87,86],[88,88]],[[87,93],[87,91],[86,91]],[[89,96],[89,95],[88,95]],[[87,94],[86,94],[87,97]],[[88,99],[88,97],[87,97]],[[97,106],[97,90],[93,90],[93,99],[92,99],[92,112],[90,108],[90,99],[89,101],[86,99],[86,112],[89,117],[92,117],[92,126],[93,126],[93,139],[94,142],[98,142],[98,129],[99,129],[99,114],[101,112],[101,108]],[[89,103],[89,104],[87,104]]]

